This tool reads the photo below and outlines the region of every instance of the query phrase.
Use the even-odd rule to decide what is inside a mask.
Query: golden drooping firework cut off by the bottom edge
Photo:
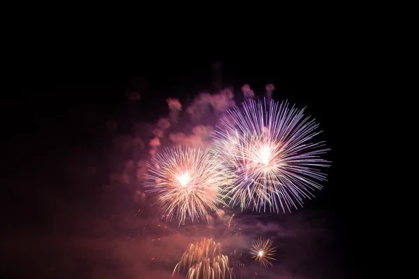
[[[233,278],[228,257],[221,254],[221,243],[216,244],[212,239],[189,244],[172,276],[186,270],[186,279]]]

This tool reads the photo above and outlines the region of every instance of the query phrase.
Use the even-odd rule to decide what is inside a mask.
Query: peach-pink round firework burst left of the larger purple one
[[[208,149],[172,148],[158,153],[148,165],[145,186],[157,193],[166,220],[208,220],[223,201],[222,186],[232,182],[226,167]]]

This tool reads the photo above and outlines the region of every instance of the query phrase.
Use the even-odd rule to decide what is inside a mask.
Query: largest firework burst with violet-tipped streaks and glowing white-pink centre
[[[253,205],[257,211],[291,211],[303,205],[303,198],[314,197],[314,189],[326,176],[318,167],[330,162],[320,155],[324,142],[312,142],[318,124],[304,110],[288,103],[251,100],[243,109],[234,107],[230,117],[222,119],[215,133],[216,149],[235,175],[227,195],[242,210]]]

